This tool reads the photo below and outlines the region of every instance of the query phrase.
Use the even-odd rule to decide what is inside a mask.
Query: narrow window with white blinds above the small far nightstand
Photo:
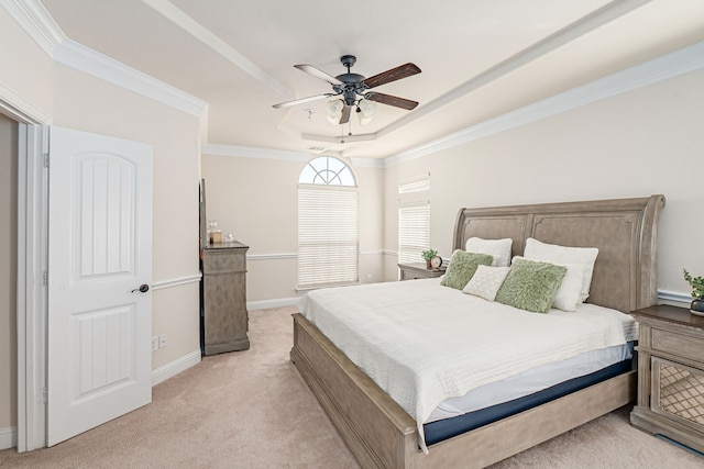
[[[398,261],[420,263],[430,247],[430,175],[422,174],[398,185]]]

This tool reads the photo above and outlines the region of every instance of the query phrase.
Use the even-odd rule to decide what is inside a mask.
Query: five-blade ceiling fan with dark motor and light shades
[[[360,109],[360,102],[362,100],[381,102],[382,104],[394,105],[396,108],[406,109],[408,111],[415,109],[418,105],[417,101],[411,101],[409,99],[398,98],[391,94],[384,94],[377,91],[369,91],[372,88],[378,87],[381,85],[420,74],[420,68],[418,68],[418,66],[416,66],[415,64],[408,63],[396,68],[392,68],[391,70],[382,71],[381,74],[374,75],[373,77],[364,78],[364,76],[360,74],[353,74],[350,71],[350,68],[356,63],[355,56],[343,55],[342,57],[340,57],[340,62],[344,67],[348,68],[348,72],[338,75],[337,77],[332,77],[324,71],[314,67],[312,65],[294,65],[294,67],[298,68],[299,70],[312,75],[316,78],[320,78],[321,80],[324,80],[332,85],[333,92],[282,102],[278,104],[274,104],[274,108],[287,108],[289,105],[296,105],[304,102],[339,96],[341,101],[344,103],[344,107],[341,110],[342,113],[340,115],[339,123],[345,124],[350,121],[350,113],[352,112],[352,108],[355,108],[356,112],[362,112],[362,110]]]

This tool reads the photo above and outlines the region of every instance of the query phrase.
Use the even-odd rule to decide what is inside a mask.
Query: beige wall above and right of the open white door
[[[199,120],[56,65],[54,124],[153,146],[153,283],[197,276]],[[153,354],[155,369],[200,348],[198,283],[152,298],[152,335],[168,337]]]

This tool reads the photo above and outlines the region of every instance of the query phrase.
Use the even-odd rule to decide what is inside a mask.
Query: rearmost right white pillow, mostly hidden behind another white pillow
[[[559,265],[579,264],[584,267],[584,280],[582,281],[582,291],[580,301],[586,301],[590,295],[590,287],[592,284],[592,275],[594,273],[594,263],[598,255],[596,247],[568,247],[557,244],[541,243],[538,239],[529,237],[526,239],[526,249],[524,257],[531,260],[542,260]]]

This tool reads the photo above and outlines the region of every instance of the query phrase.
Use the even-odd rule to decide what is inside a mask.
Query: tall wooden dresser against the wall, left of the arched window
[[[239,242],[202,250],[201,340],[205,355],[246,350],[246,252]]]

